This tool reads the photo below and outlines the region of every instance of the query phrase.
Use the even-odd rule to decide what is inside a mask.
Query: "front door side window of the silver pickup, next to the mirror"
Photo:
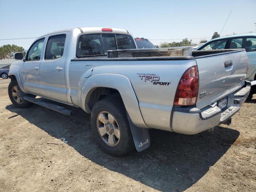
[[[36,41],[28,50],[27,61],[40,60],[42,49],[44,45],[44,38]]]

